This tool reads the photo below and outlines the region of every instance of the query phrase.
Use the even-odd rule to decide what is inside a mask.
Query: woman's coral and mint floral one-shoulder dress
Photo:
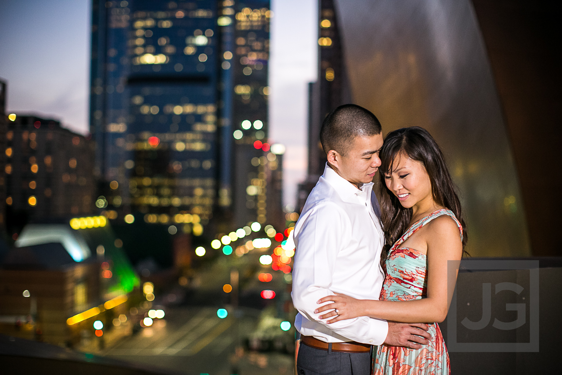
[[[442,209],[415,222],[389,250],[386,260],[387,274],[384,278],[380,300],[409,301],[427,296],[427,256],[408,247],[399,247],[425,224],[441,215],[451,216],[463,228],[455,214]],[[432,337],[429,345],[422,349],[402,346],[379,345],[373,358],[373,375],[443,375],[450,374],[449,355],[437,323],[428,324]]]

